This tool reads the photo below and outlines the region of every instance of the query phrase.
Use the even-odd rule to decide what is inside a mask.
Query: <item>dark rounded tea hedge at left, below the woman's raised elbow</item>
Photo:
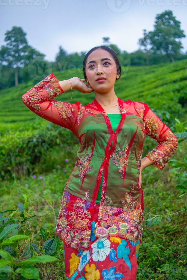
[[[68,151],[69,157],[74,158],[79,140],[73,135],[64,127],[38,120],[20,126],[17,131],[6,131],[0,136],[0,177],[10,179],[50,171]],[[55,149],[58,156],[51,158],[50,151]]]

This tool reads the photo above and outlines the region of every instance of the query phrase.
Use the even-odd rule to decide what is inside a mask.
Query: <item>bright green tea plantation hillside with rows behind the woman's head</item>
[[[75,76],[83,78],[81,69],[75,70],[74,73],[67,70],[64,73],[54,72],[54,74],[59,80]],[[15,127],[16,129],[21,123],[31,122],[35,118],[41,119],[31,112],[21,100],[23,93],[28,91],[37,82],[31,80],[17,87],[0,91],[1,129],[6,129],[7,126],[9,128]],[[149,67],[131,67],[129,65],[122,67],[122,75],[119,81],[116,82],[115,93],[123,100],[130,99],[146,102],[156,113],[157,109],[160,113],[167,112],[166,117],[172,119],[174,116],[182,117],[181,104],[187,95],[186,88],[187,59]],[[71,99],[70,93],[70,91],[65,92],[55,99],[70,103],[78,100],[85,105],[90,103],[95,97],[94,92],[81,93],[73,89],[73,98]]]

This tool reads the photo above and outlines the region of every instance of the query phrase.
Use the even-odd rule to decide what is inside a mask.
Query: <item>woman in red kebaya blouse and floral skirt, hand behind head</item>
[[[150,164],[162,170],[178,142],[147,103],[116,96],[121,67],[112,49],[91,49],[83,74],[59,81],[51,73],[22,96],[31,111],[80,141],[55,229],[64,242],[65,275],[136,279],[144,221],[141,173]],[[87,105],[52,100],[72,88],[95,91],[95,98]],[[145,134],[158,145],[142,159]]]

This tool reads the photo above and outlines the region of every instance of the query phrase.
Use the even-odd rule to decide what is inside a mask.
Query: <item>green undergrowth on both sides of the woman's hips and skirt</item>
[[[142,171],[145,216],[137,280],[187,277],[185,123],[178,121],[177,130],[181,138],[176,155],[164,172],[152,166]],[[48,160],[55,162],[58,157],[59,147],[51,150]],[[63,242],[54,231],[73,166],[67,152],[50,172],[36,172],[1,184],[1,279],[64,279]],[[7,231],[9,226],[14,229]],[[9,242],[11,237],[13,243]]]

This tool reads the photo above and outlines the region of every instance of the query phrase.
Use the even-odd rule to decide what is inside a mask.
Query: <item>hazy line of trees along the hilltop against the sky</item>
[[[116,44],[110,43],[109,37],[102,37],[103,45],[113,49],[122,66],[149,66],[165,62],[186,59],[186,53],[180,41],[186,37],[171,10],[157,14],[153,31],[143,30],[143,37],[138,40],[138,50],[128,53],[122,51]],[[22,27],[13,26],[5,33],[6,45],[0,49],[0,89],[24,83],[37,77],[37,73],[46,69],[62,71],[82,67],[86,52],[68,54],[62,46],[55,57],[49,62],[45,54],[29,45]]]

